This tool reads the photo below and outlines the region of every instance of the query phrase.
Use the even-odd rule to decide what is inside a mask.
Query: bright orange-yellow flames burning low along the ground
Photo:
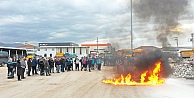
[[[103,80],[103,83],[113,85],[157,85],[164,83],[164,80],[159,77],[161,71],[161,62],[155,64],[155,68],[151,71],[145,71],[141,74],[140,81],[136,82],[132,79],[132,75],[121,75],[118,78]]]

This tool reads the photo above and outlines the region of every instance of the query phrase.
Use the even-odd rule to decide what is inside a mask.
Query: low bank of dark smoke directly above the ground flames
[[[161,49],[145,49],[135,57],[123,58],[122,64],[117,65],[117,74],[124,76],[131,74],[133,79],[139,80],[144,72],[147,72],[147,76],[150,76],[156,67],[156,63],[161,62],[159,77],[167,78],[172,74],[168,58],[169,54],[162,52]]]

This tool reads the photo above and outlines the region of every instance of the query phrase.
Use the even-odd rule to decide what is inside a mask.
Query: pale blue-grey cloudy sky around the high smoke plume
[[[117,43],[130,48],[129,0],[0,0],[0,42]],[[194,0],[189,17],[180,20],[184,33],[172,35],[171,46],[191,46],[194,33]],[[133,15],[134,47],[155,45],[153,24],[140,22]],[[120,47],[121,47],[120,46]]]

